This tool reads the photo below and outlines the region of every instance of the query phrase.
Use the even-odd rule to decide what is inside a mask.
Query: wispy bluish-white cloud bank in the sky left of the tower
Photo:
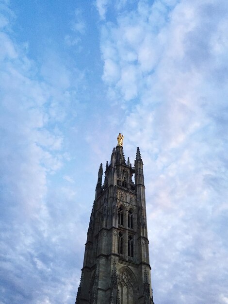
[[[27,56],[28,44],[16,43],[7,26],[0,33],[0,185],[4,189],[0,201],[4,239],[0,246],[4,256],[0,301],[66,303],[65,299],[69,302],[75,297],[79,271],[70,264],[83,242],[77,245],[75,223],[66,212],[76,209],[74,187],[56,188],[53,180],[67,157],[65,135],[58,123],[66,125],[64,118],[75,111],[72,103],[76,103],[82,74],[78,71],[78,78],[73,77],[76,69],[69,71],[55,52],[47,51],[41,75],[38,65]],[[68,181],[72,182],[69,176]],[[77,209],[81,220],[82,208]],[[82,230],[80,220],[77,227]],[[66,250],[69,238],[73,239],[70,251]],[[63,264],[66,279],[61,274]],[[64,286],[61,296],[61,287],[56,285]]]

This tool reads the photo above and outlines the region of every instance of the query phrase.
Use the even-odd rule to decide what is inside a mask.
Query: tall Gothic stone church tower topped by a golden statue
[[[98,170],[76,304],[154,304],[149,265],[143,161],[132,167],[123,135]],[[134,182],[132,176],[134,174]]]

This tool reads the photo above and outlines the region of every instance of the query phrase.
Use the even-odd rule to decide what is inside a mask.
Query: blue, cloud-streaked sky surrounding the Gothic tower
[[[0,0],[0,304],[75,302],[119,132],[155,304],[228,304],[227,0]]]

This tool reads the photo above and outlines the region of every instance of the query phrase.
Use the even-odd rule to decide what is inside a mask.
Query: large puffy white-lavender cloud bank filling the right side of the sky
[[[155,302],[203,304],[226,292],[227,16],[225,1],[139,1],[103,25],[104,60],[121,71],[110,82],[105,69],[103,80],[126,101],[122,132],[145,165]]]

